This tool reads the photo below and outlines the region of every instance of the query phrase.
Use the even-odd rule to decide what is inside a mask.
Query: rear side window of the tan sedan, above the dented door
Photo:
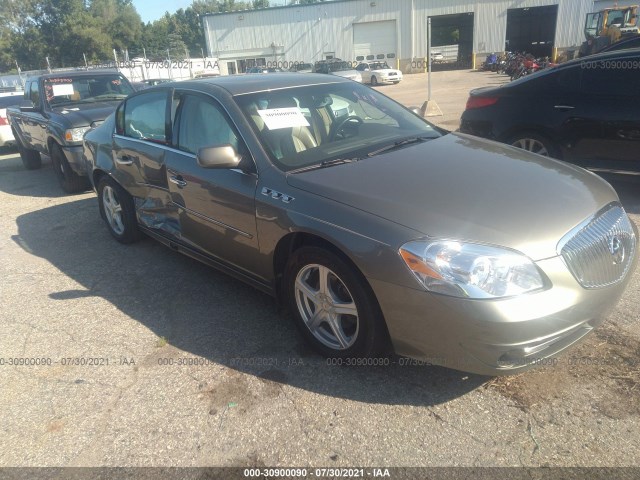
[[[144,93],[127,100],[124,115],[119,112],[118,132],[131,138],[166,143],[167,92]],[[120,123],[121,121],[121,123]]]

